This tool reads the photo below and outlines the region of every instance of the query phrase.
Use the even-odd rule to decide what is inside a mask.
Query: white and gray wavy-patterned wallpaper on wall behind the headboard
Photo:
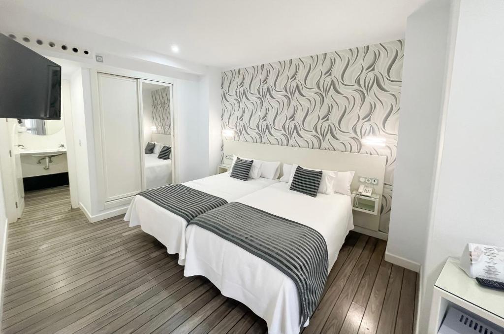
[[[222,127],[234,140],[386,155],[388,232],[403,57],[396,40],[222,72]],[[366,146],[365,136],[387,144]]]

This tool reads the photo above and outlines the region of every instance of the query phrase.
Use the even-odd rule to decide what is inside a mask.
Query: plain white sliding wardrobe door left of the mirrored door
[[[138,80],[98,73],[104,200],[142,190]]]

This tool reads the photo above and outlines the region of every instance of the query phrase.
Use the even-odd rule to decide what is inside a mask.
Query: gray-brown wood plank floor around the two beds
[[[3,333],[264,333],[266,323],[122,216],[90,224],[67,187],[26,194],[9,227]],[[416,273],[350,234],[307,333],[411,333]]]

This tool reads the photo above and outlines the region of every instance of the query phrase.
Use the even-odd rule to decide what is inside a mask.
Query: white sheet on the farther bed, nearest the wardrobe
[[[277,182],[278,180],[265,178],[241,181],[223,173],[182,184],[230,202]],[[185,219],[137,195],[133,198],[124,220],[130,221],[130,227],[140,225],[145,233],[165,245],[169,254],[178,253],[178,263],[184,264],[187,226]]]

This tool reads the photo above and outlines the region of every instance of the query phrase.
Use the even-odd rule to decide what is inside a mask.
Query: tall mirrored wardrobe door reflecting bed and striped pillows
[[[172,85],[141,80],[144,189],[174,183]]]

